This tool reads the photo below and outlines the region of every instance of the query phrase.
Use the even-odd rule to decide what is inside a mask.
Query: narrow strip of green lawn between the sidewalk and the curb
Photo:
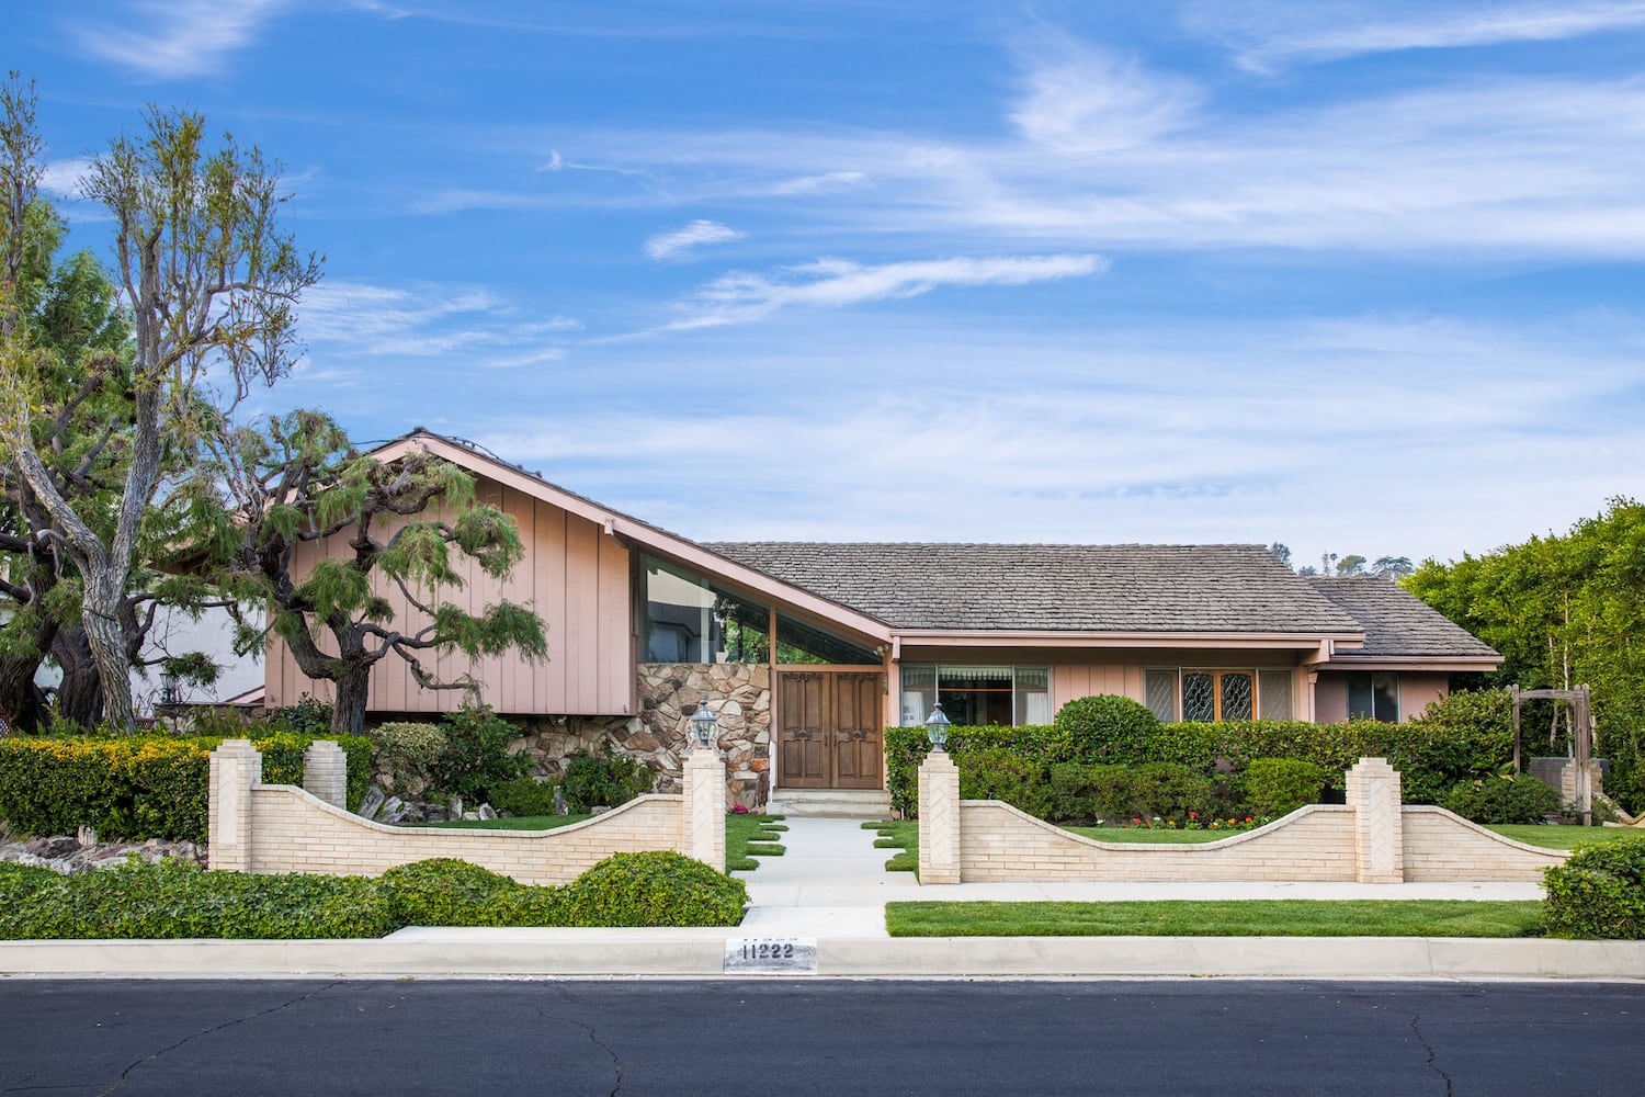
[[[1541,903],[887,903],[885,926],[893,937],[1536,937],[1541,936]]]

